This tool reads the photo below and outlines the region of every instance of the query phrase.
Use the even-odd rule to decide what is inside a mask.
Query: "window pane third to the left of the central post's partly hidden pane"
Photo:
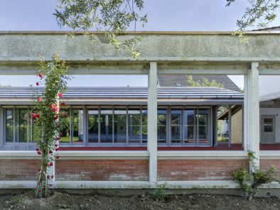
[[[100,110],[100,142],[112,143],[113,142],[113,111],[112,110]]]

